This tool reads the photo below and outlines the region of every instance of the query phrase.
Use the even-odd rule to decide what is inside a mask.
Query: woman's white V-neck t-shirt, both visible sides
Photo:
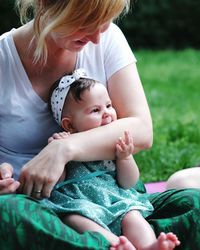
[[[0,36],[0,164],[11,163],[14,177],[48,138],[60,131],[48,105],[33,90],[17,53],[13,30]],[[89,42],[79,53],[76,68],[107,84],[118,70],[136,62],[121,30],[111,24],[99,44]],[[126,83],[122,83],[126,84]]]

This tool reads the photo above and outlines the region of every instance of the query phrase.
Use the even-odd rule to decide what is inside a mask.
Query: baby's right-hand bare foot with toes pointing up
[[[157,239],[156,250],[172,250],[180,245],[178,237],[173,233],[161,233]]]

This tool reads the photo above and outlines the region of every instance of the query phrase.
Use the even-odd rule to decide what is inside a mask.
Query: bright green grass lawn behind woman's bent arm
[[[154,143],[135,156],[145,182],[200,163],[200,51],[136,51]]]

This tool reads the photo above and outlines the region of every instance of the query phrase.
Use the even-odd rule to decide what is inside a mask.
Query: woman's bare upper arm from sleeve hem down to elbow
[[[136,64],[115,73],[109,80],[108,90],[118,119],[128,118],[124,120],[124,126],[133,136],[134,152],[150,148],[153,142],[152,120]]]

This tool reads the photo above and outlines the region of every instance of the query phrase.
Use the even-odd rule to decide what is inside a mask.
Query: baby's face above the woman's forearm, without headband
[[[95,84],[85,90],[81,101],[70,103],[71,123],[75,132],[100,127],[117,119],[107,89],[102,84]]]

